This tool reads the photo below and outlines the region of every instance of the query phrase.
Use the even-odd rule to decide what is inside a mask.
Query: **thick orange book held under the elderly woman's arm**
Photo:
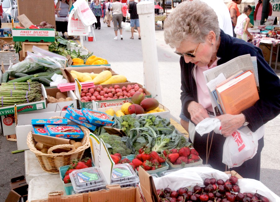
[[[240,114],[259,100],[254,74],[248,70],[216,88],[225,114]]]

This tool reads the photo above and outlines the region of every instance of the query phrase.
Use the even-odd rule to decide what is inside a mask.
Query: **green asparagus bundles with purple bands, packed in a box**
[[[0,107],[40,101],[42,96],[39,82],[2,83]]]

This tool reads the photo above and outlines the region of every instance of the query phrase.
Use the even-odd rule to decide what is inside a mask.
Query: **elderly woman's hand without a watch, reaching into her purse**
[[[191,116],[191,120],[195,124],[198,124],[200,121],[209,117],[207,110],[201,104],[195,101],[191,101],[189,103],[188,111]]]

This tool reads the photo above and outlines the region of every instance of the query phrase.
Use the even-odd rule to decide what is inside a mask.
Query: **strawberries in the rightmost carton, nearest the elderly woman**
[[[191,147],[182,147],[179,149],[166,149],[162,152],[169,162],[173,165],[182,165],[200,161],[198,152]]]

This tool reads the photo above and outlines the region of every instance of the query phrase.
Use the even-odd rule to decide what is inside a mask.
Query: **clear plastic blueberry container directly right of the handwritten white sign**
[[[136,187],[139,177],[128,163],[115,165],[112,172],[111,184],[119,184],[120,187]]]

